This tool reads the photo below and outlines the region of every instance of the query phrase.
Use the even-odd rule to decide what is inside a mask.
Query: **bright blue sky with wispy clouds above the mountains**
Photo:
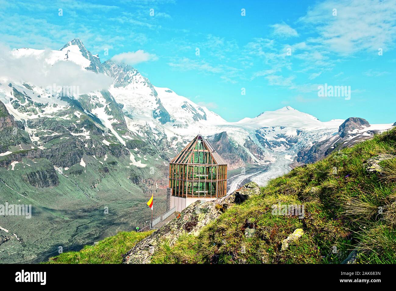
[[[396,122],[396,0],[0,0],[11,49],[76,37],[228,121],[289,105],[322,121]],[[319,97],[325,83],[351,98]]]

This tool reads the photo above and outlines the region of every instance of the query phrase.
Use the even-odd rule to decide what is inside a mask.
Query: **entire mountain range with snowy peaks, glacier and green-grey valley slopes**
[[[362,118],[321,122],[289,106],[227,122],[129,65],[102,63],[78,38],[59,51],[11,55],[51,71],[78,66],[109,86],[90,91],[90,84],[0,80],[0,204],[33,209],[31,219],[1,217],[0,262],[42,261],[59,247],[79,249],[143,226],[151,194],[154,215],[162,214],[169,159],[198,133],[227,161],[232,192],[392,127]]]

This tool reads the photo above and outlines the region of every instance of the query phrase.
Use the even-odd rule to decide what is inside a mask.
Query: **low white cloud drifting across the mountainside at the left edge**
[[[80,94],[107,89],[113,82],[109,76],[84,70],[71,61],[51,64],[51,55],[46,50],[37,55],[16,56],[6,46],[0,46],[0,78],[40,87],[78,86]]]

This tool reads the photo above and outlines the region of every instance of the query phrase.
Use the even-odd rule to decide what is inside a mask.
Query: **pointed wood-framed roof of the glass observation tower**
[[[213,146],[202,135],[198,134],[190,143],[188,143],[179,154],[177,154],[171,163],[193,164],[191,162],[192,152],[209,152],[211,160],[209,164],[227,165],[227,162],[216,152]]]

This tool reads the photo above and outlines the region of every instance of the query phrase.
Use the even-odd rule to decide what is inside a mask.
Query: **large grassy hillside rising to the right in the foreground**
[[[358,249],[360,263],[396,263],[396,159],[382,163],[381,177],[364,165],[380,153],[396,154],[396,129],[270,181],[198,237],[183,236],[172,247],[164,242],[152,262],[340,263]],[[279,202],[303,204],[304,218],[272,215],[271,206]],[[255,228],[251,238],[247,226]],[[296,228],[303,228],[303,236],[280,251]]]

